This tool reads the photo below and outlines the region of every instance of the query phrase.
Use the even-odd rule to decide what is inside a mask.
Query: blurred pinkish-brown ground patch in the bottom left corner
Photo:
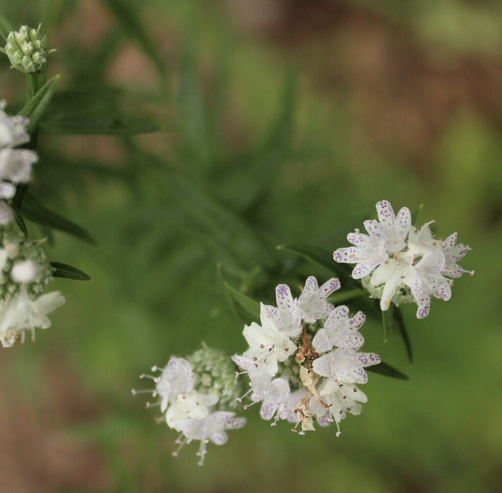
[[[0,360],[4,374],[9,359]],[[42,380],[51,387],[36,409],[23,402],[15,387],[0,383],[0,489],[6,493],[107,490],[110,478],[99,451],[72,443],[64,434],[68,423],[95,418],[96,405],[60,358],[49,360],[47,378]]]

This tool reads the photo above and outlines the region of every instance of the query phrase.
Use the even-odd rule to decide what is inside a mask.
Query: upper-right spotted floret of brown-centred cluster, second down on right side
[[[364,323],[366,316],[357,312],[348,318],[348,308],[344,305],[336,307],[319,329],[312,340],[312,345],[318,353],[330,351],[333,346],[357,350],[364,344],[364,338],[357,332]]]

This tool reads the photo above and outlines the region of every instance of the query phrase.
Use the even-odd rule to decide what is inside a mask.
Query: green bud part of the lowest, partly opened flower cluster
[[[217,395],[217,406],[221,410],[228,411],[238,405],[235,397],[242,393],[242,379],[235,378],[235,364],[223,351],[203,348],[187,359],[197,375],[197,391]]]

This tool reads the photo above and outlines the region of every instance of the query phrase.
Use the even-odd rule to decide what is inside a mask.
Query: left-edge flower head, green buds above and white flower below
[[[27,331],[35,342],[35,329],[51,326],[47,314],[65,299],[59,291],[40,295],[52,279],[44,251],[21,233],[0,233],[0,341],[12,347],[25,341]]]

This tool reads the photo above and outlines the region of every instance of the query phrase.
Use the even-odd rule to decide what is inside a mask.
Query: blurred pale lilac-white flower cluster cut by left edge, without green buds
[[[29,120],[23,116],[9,117],[4,109],[7,103],[0,101],[0,225],[12,221],[12,212],[6,204],[14,197],[17,183],[27,183],[31,178],[37,153],[15,147],[30,141],[26,132]]]

